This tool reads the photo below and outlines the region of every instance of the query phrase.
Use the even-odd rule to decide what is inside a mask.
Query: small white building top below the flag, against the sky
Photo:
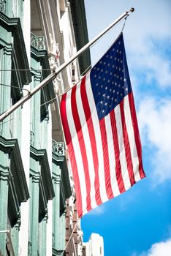
[[[103,237],[99,234],[92,233],[88,242],[83,243],[85,246],[86,256],[104,256]]]

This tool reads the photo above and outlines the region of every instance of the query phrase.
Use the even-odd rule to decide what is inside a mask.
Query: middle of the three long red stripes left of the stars
[[[77,111],[77,99],[76,99],[76,93],[75,93],[76,89],[77,87],[75,86],[72,89],[72,95],[71,95],[72,116],[75,122],[75,129],[77,131],[77,140],[79,141],[79,145],[80,145],[80,152],[81,152],[84,173],[85,173],[87,211],[91,211],[91,197],[90,197],[91,183],[90,183],[90,176],[88,171],[88,159],[86,154],[86,146],[85,146],[83,131],[80,123],[80,117]]]

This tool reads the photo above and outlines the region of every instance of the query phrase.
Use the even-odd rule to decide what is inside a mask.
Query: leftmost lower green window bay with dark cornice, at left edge
[[[12,245],[18,252],[20,203],[29,193],[18,140],[0,136],[0,230],[9,230]],[[18,227],[17,227],[17,226]],[[17,228],[17,229],[16,229]],[[7,233],[0,233],[0,251],[6,255]]]

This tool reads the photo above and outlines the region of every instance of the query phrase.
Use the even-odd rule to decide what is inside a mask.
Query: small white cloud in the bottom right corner
[[[171,238],[167,241],[161,241],[156,244],[152,244],[151,249],[148,252],[142,252],[137,254],[134,252],[132,256],[170,256],[171,252]]]

